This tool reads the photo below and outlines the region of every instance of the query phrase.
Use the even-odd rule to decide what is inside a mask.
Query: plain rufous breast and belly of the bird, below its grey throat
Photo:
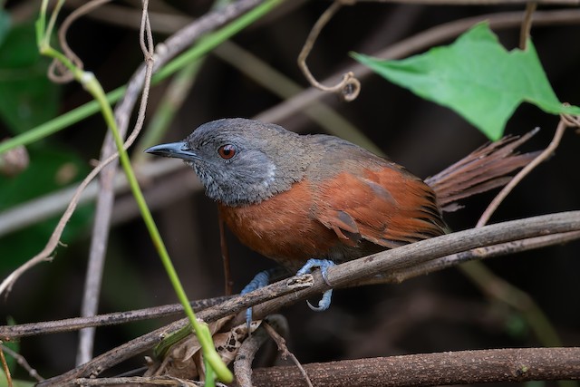
[[[341,250],[336,234],[311,216],[312,196],[304,182],[257,204],[219,205],[227,227],[247,247],[295,270],[309,258],[330,258]]]

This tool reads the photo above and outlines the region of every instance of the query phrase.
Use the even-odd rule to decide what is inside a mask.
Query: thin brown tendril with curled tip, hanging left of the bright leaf
[[[321,15],[320,18],[316,21],[312,27],[312,30],[310,31],[310,34],[308,34],[308,37],[306,38],[306,42],[304,43],[302,50],[298,54],[298,67],[300,70],[302,70],[302,73],[304,73],[304,76],[308,82],[310,82],[310,84],[312,84],[316,89],[322,90],[323,92],[333,92],[343,98],[344,101],[351,102],[356,99],[356,97],[359,95],[359,92],[361,92],[361,82],[354,78],[353,72],[344,73],[343,80],[341,82],[338,82],[334,86],[328,87],[316,81],[314,75],[310,73],[310,70],[306,65],[306,58],[312,51],[314,42],[316,42],[316,39],[324,28],[324,25],[326,25],[330,19],[333,18],[333,15],[336,14],[336,12],[338,12],[338,10],[347,3],[352,4],[353,2],[348,2],[346,0],[334,0],[333,4],[330,5],[328,9],[324,11],[324,14]]]

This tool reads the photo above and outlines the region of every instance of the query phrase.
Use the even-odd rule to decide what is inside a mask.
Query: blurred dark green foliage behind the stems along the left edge
[[[0,119],[14,135],[57,116],[61,87],[46,72],[50,61],[36,47],[34,24],[10,27],[0,14]],[[37,141],[29,149],[30,165],[15,177],[0,176],[0,211],[62,189],[82,179],[89,170],[76,151],[54,140]],[[70,243],[92,218],[92,207],[79,208],[64,230],[62,241]],[[44,247],[57,218],[0,238],[0,272],[14,269]]]

